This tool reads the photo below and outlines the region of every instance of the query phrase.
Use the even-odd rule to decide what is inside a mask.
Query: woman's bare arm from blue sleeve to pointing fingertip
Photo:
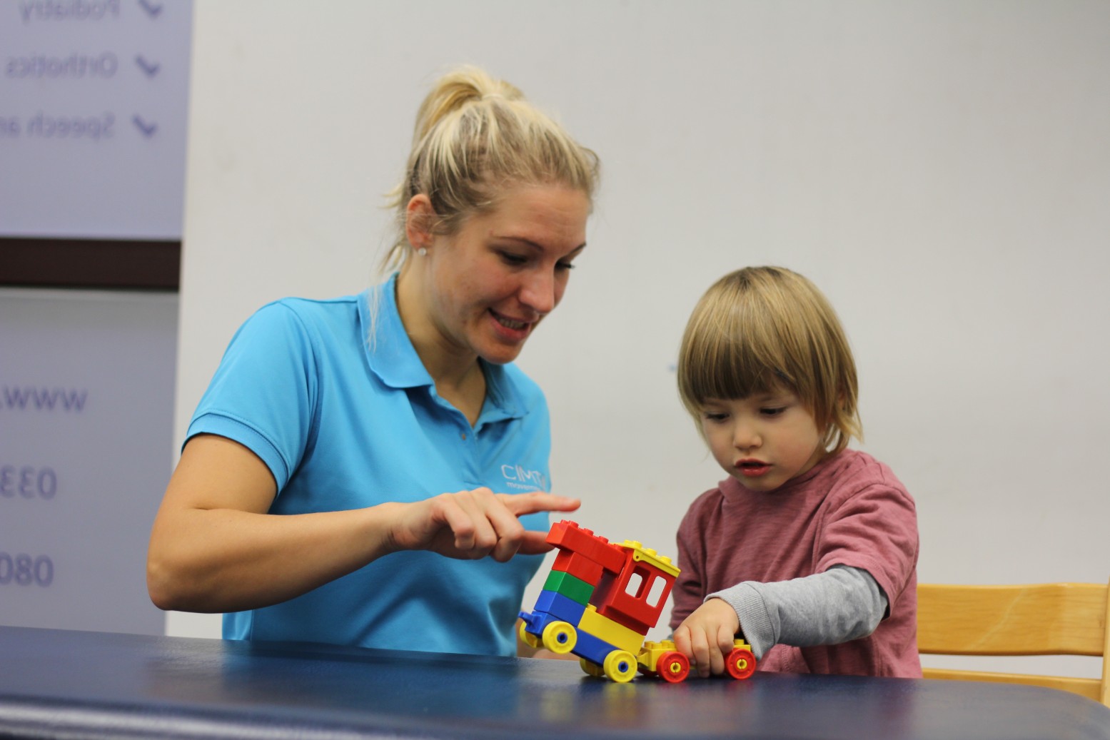
[[[275,495],[270,469],[246,447],[215,435],[190,439],[151,531],[147,586],[155,606],[208,612],[270,606],[402,549],[497,560],[543,553],[544,533],[525,531],[517,517],[578,506],[551,494],[480,488],[284,516],[268,514]]]

